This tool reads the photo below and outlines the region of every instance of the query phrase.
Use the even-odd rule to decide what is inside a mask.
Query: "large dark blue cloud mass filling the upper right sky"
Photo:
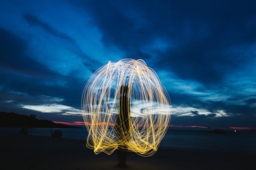
[[[220,6],[216,2],[187,3],[93,1],[81,7],[90,11],[106,46],[118,46],[129,57],[141,57],[155,69],[165,68],[182,79],[195,79],[208,86],[221,83],[225,75],[243,65],[241,58],[234,60],[225,51],[255,42],[252,32],[247,33],[247,29],[256,28],[250,17],[255,11],[249,3],[241,2],[222,2]],[[240,5],[249,11],[245,13]],[[164,51],[148,48],[157,41],[165,42],[160,44]]]

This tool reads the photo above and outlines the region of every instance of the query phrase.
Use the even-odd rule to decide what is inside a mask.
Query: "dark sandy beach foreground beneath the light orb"
[[[1,170],[118,170],[117,153],[95,155],[85,141],[0,132]],[[129,152],[128,170],[254,170],[255,155],[159,148],[152,157]]]

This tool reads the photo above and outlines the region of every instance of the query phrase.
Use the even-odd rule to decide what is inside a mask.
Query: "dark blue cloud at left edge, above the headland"
[[[13,33],[0,28],[0,67],[6,71],[33,77],[56,76],[26,54],[27,42]]]

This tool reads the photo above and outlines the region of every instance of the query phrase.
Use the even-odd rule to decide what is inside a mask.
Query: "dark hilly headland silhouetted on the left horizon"
[[[0,127],[27,128],[80,128],[64,124],[56,124],[50,120],[38,120],[36,115],[18,115],[16,113],[0,112]]]

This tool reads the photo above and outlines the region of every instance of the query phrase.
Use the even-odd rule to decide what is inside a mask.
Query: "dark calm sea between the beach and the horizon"
[[[58,128],[59,129],[59,128]],[[56,128],[29,128],[27,135],[51,137]],[[60,128],[63,139],[84,140],[86,128]],[[0,128],[2,132],[19,133],[20,128]],[[221,152],[256,157],[256,132],[227,131],[225,134],[209,133],[206,130],[168,130],[159,148]]]

